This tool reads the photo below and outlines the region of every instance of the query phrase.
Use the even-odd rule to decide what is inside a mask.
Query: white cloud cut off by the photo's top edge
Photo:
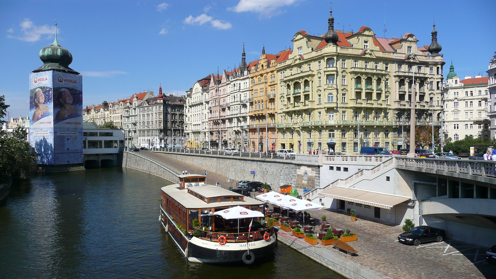
[[[257,12],[260,16],[271,17],[280,13],[279,7],[291,5],[299,0],[240,0],[239,3],[231,8],[235,12],[252,11]]]

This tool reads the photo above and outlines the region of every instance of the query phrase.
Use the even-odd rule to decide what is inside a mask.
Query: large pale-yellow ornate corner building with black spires
[[[277,63],[277,148],[407,148],[413,79],[416,125],[439,127],[444,62],[436,34],[417,47],[411,33],[378,38],[366,26],[344,33],[334,30],[332,10],[322,37],[297,32],[293,53]]]

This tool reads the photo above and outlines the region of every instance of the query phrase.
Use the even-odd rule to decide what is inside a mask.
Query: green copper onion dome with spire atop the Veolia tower
[[[54,43],[40,50],[40,60],[43,61],[43,66],[33,70],[33,72],[57,70],[79,74],[77,71],[69,68],[69,64],[72,63],[72,55],[67,49],[62,48],[57,41],[57,23],[55,23]]]

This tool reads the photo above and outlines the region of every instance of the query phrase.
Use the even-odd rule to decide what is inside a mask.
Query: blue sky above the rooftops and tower
[[[335,0],[335,29],[369,26],[378,37],[413,33],[431,43],[433,19],[449,71],[487,76],[496,51],[495,0]],[[29,73],[54,41],[69,50],[83,75],[83,105],[116,101],[142,90],[184,95],[210,73],[292,47],[296,32],[327,31],[329,2],[321,0],[2,0],[0,95],[14,118],[29,110]]]

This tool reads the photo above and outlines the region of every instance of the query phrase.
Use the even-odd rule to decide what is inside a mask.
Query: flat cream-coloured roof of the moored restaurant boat
[[[241,194],[213,185],[202,185],[202,186],[188,187],[187,189],[181,189],[181,187],[179,187],[179,184],[173,184],[169,186],[164,186],[161,188],[161,190],[187,209],[256,206],[256,205],[264,204],[263,202],[248,197],[244,197],[244,201],[219,202],[219,203],[207,204],[206,202],[188,193],[188,190],[190,190],[205,198],[223,197],[223,196],[243,197],[243,195]]]

